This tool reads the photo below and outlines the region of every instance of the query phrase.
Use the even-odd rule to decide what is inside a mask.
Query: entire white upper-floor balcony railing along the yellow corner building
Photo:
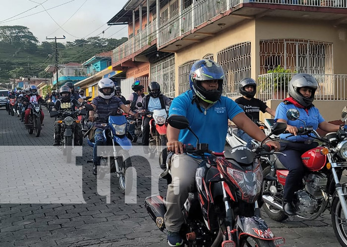
[[[178,11],[176,15],[159,27],[159,31],[156,25],[157,22],[154,20],[139,34],[116,47],[113,50],[112,63],[150,44],[151,41],[156,39],[157,32],[159,32],[157,45],[162,46],[193,30],[195,27],[210,21],[232,7],[248,2],[347,8],[347,0],[199,0],[193,2],[189,7]]]

